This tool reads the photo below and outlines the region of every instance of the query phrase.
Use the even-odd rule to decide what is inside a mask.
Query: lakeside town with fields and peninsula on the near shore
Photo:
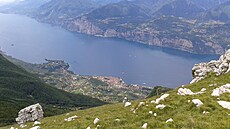
[[[6,56],[7,57],[7,56]],[[81,76],[69,71],[69,65],[62,60],[46,60],[43,64],[29,64],[11,57],[13,63],[36,74],[45,83],[74,94],[83,94],[102,101],[122,102],[146,98],[151,87],[126,84],[121,78],[104,76]]]

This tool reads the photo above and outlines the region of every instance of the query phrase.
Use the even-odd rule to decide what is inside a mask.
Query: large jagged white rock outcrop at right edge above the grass
[[[212,60],[208,63],[196,64],[192,68],[193,80],[190,82],[198,82],[208,74],[214,73],[216,76],[227,74],[230,72],[230,49],[224,55],[221,55],[219,60]]]

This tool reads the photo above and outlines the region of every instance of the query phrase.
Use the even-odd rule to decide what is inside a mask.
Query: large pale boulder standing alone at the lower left
[[[37,103],[20,110],[18,112],[16,122],[21,125],[29,121],[33,122],[36,120],[40,120],[41,118],[43,118],[43,114],[44,112],[42,110],[42,106]]]

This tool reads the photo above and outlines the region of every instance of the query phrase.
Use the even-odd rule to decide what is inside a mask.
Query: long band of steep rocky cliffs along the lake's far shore
[[[102,21],[103,20],[89,19],[87,16],[80,16],[76,19],[65,21],[63,27],[73,32],[99,37],[121,38],[146,45],[174,48],[190,53],[222,54],[224,52],[223,46],[217,43],[203,40],[193,41],[193,38],[189,38],[189,36],[169,36],[169,34],[165,34],[163,30],[161,30],[161,32],[155,30],[154,27],[143,27],[145,26],[144,23],[134,28],[121,26],[117,28],[116,26],[110,26],[109,23],[104,23]],[[199,47],[199,49],[196,48],[197,42],[199,42],[199,46],[202,46]]]

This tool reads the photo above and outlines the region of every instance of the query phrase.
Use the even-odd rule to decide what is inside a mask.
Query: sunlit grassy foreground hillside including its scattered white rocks
[[[229,51],[220,59],[229,64]],[[224,61],[224,62],[225,62]],[[195,67],[197,67],[196,65]],[[219,71],[221,67],[217,68]],[[230,116],[230,73],[206,72],[202,80],[139,101],[70,112],[26,123],[26,129],[80,128],[214,128],[228,129]],[[14,129],[18,125],[5,128]]]

